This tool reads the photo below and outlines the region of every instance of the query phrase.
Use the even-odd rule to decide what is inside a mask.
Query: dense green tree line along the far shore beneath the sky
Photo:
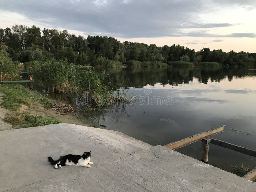
[[[211,51],[203,48],[194,49],[180,45],[164,45],[121,43],[116,38],[107,36],[88,36],[70,34],[67,30],[46,29],[42,31],[33,25],[14,25],[12,28],[0,28],[0,46],[9,53],[12,61],[28,62],[54,58],[67,59],[79,65],[92,65],[98,57],[119,61],[125,64],[129,60],[173,62],[185,61],[218,62],[230,66],[256,65],[256,53],[224,52],[221,49]]]

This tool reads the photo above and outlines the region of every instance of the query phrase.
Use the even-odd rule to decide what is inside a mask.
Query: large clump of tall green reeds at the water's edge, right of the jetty
[[[32,66],[33,78],[50,92],[88,92],[95,100],[109,95],[104,77],[98,76],[93,68],[70,66],[66,60],[34,61]]]

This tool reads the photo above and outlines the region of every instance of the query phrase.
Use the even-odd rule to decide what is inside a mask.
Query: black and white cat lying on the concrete
[[[89,164],[93,164],[92,162],[90,162],[90,158],[91,158],[91,151],[84,152],[83,155],[68,154],[68,155],[60,156],[60,158],[56,161],[54,161],[52,157],[48,157],[48,161],[52,165],[54,165],[55,169],[57,168],[61,169],[62,166],[65,166],[65,165],[83,166],[83,167],[90,168],[91,166]]]

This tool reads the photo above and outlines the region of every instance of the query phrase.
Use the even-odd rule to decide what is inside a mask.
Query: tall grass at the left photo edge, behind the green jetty
[[[0,80],[16,80],[19,78],[18,67],[4,50],[0,50]]]

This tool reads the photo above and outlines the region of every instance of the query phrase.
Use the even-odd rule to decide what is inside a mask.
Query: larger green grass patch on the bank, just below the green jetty
[[[52,101],[48,98],[47,94],[44,95],[35,91],[30,91],[22,85],[1,84],[0,92],[4,93],[0,105],[9,110],[17,110],[21,107],[21,104],[31,107],[36,101],[40,102],[44,108],[52,106]]]

